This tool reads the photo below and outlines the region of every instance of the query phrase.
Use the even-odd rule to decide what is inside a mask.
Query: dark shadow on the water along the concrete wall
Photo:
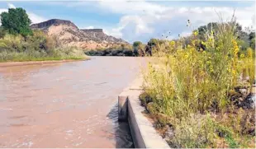
[[[128,122],[118,121],[118,106],[113,106],[107,117],[112,120],[115,129],[116,148],[134,148]]]

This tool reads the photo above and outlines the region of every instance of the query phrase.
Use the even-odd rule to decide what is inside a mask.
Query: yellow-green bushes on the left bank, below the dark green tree
[[[56,40],[35,30],[33,35],[7,34],[0,39],[0,62],[85,58],[82,49],[57,47]]]

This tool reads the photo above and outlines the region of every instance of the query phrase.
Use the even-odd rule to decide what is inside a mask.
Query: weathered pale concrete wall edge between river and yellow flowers
[[[135,148],[170,148],[168,143],[156,132],[153,124],[142,114],[140,105],[142,77],[138,77],[118,96],[119,120],[128,120]]]

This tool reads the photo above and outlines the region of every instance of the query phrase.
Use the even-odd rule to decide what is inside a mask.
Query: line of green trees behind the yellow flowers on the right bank
[[[201,42],[196,43],[197,49],[206,49],[206,46],[203,43],[203,41],[206,40],[206,32],[210,31],[212,29],[213,34],[215,35],[217,33],[218,27],[221,27],[221,24],[218,24],[216,22],[208,23],[206,26],[199,26],[197,30],[194,30],[193,32],[197,32],[197,37],[194,35],[189,35],[187,37],[179,38],[178,40],[158,40],[158,39],[150,39],[147,44],[142,44],[140,41],[135,41],[133,43],[133,48],[139,51],[140,56],[152,56],[154,54],[154,51],[159,50],[168,50],[170,49],[170,46],[172,44],[175,44],[177,42],[183,42],[183,46],[187,46],[188,44],[192,44],[192,40],[195,40],[194,38],[197,38]],[[246,49],[251,48],[255,51],[255,31],[249,28],[245,28],[245,30],[242,30],[242,26],[239,25],[239,23],[235,24],[235,35],[238,36],[239,41],[239,54],[245,53]]]

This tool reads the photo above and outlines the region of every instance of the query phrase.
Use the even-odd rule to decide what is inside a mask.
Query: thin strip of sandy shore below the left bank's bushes
[[[84,59],[64,59],[64,60],[45,60],[45,61],[27,61],[27,62],[4,62],[0,63],[0,68],[2,67],[12,67],[12,66],[24,66],[24,65],[38,65],[45,63],[66,63],[66,62],[74,62],[74,61],[85,61],[90,58]]]

